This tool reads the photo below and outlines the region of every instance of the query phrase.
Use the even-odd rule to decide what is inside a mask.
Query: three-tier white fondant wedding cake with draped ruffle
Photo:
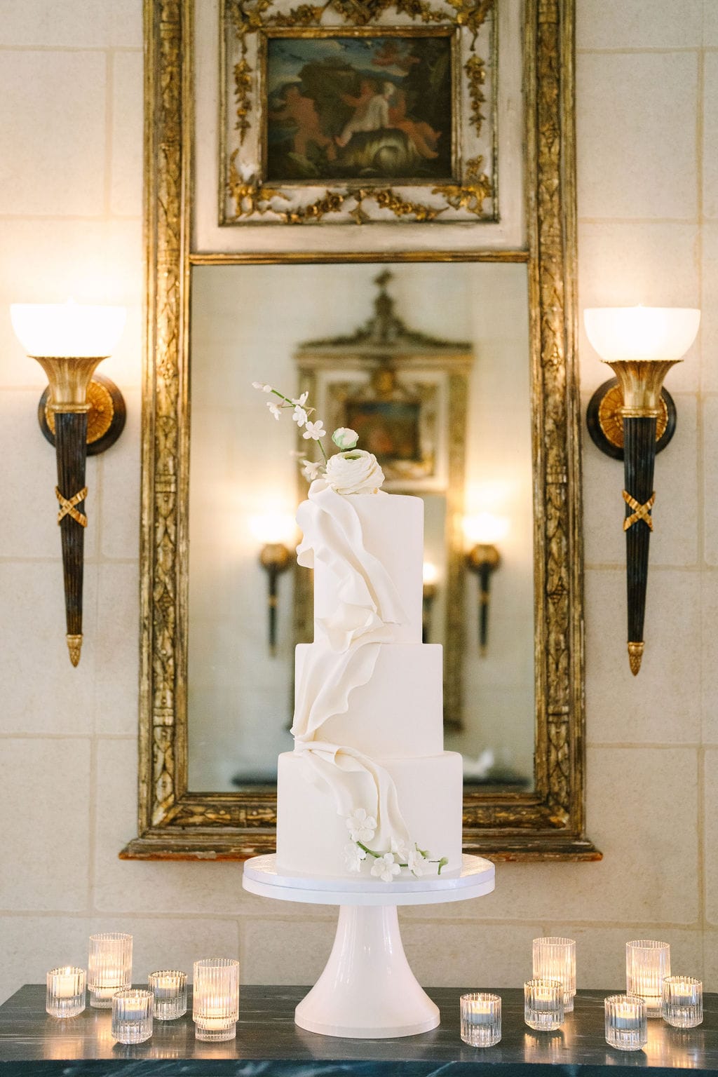
[[[462,758],[444,751],[441,647],[421,642],[423,507],[323,480],[299,507],[314,643],[296,651],[295,751],[279,758],[284,873],[461,869]]]

